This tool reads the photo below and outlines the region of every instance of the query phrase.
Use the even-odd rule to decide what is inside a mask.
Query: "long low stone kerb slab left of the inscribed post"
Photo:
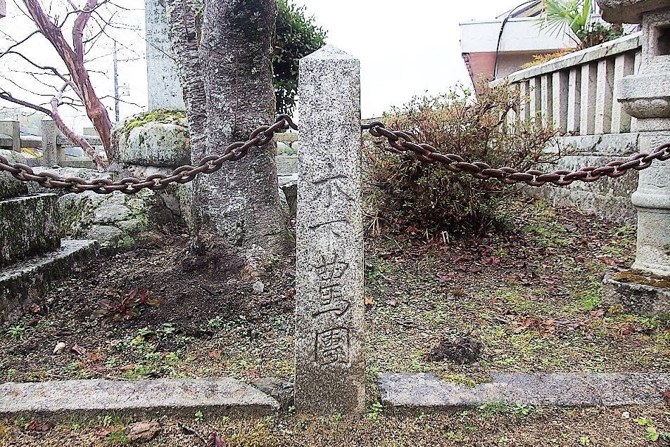
[[[271,415],[279,403],[251,385],[227,377],[136,382],[65,380],[0,384],[0,415],[123,412],[142,415]]]

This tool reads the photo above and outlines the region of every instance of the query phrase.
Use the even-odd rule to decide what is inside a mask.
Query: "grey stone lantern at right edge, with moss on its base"
[[[598,0],[602,18],[642,23],[643,56],[636,74],[618,85],[617,100],[638,119],[638,150],[670,143],[670,0]],[[638,248],[631,271],[605,277],[602,302],[627,311],[670,313],[670,162],[640,171],[633,193]]]

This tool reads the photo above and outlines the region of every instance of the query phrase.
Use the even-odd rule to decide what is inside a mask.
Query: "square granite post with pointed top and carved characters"
[[[296,408],[365,408],[360,63],[325,46],[300,62]]]

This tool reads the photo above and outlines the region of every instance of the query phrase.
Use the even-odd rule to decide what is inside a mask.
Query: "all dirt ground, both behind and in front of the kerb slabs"
[[[230,446],[670,445],[669,406],[383,413],[375,372],[430,371],[472,385],[491,372],[670,371],[667,319],[600,303],[605,271],[632,264],[633,227],[531,200],[514,205],[510,216],[510,232],[472,240],[367,236],[367,415],[209,422],[194,415],[181,422],[205,435],[220,432]],[[0,334],[0,380],[292,380],[294,259],[241,278],[222,259],[194,266],[187,242],[180,228],[164,228],[151,244],[103,253],[53,287],[32,314]],[[142,289],[156,306],[140,304],[129,320],[94,316],[100,300]],[[61,342],[63,351],[53,354]],[[445,355],[431,355],[440,345]],[[477,349],[468,358],[450,355],[458,346]],[[130,421],[67,421],[46,432],[29,422],[0,422],[0,446],[122,445]],[[178,420],[160,423],[160,437],[147,445],[202,444]],[[96,436],[109,431],[101,431],[105,425],[116,432]]]

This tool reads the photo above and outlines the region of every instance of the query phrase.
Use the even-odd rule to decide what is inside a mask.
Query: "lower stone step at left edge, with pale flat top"
[[[0,268],[0,325],[20,318],[52,281],[65,278],[97,254],[95,240],[63,240],[57,250]]]

